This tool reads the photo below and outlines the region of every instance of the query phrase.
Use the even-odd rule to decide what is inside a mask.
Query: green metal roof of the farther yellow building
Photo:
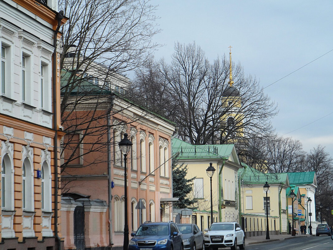
[[[247,166],[245,163],[242,163],[242,165]],[[239,169],[238,174],[241,175],[243,171],[244,168]],[[285,183],[288,178],[287,173],[262,173],[248,166],[245,171],[242,178],[244,184],[265,184],[266,181],[268,184]]]

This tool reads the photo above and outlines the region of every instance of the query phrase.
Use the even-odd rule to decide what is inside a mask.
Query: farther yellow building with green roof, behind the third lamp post
[[[265,234],[266,205],[270,234],[286,234],[286,190],[289,187],[287,173],[265,174],[246,166],[245,169],[239,170],[239,176],[242,223],[247,236]],[[270,186],[267,200],[263,189],[266,182]]]

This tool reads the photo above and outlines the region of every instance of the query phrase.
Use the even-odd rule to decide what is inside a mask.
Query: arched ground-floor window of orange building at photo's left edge
[[[14,174],[8,154],[1,163],[1,207],[3,210],[14,210]]]

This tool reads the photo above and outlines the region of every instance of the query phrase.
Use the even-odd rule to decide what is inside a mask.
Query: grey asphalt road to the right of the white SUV
[[[246,241],[245,241],[246,243]],[[332,250],[330,236],[298,237],[294,239],[272,241],[262,244],[246,245],[246,250]]]

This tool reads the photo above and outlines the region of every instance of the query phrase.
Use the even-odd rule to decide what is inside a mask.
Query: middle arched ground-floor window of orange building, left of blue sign
[[[34,211],[33,186],[33,171],[26,158],[22,165],[22,209],[29,212]]]

